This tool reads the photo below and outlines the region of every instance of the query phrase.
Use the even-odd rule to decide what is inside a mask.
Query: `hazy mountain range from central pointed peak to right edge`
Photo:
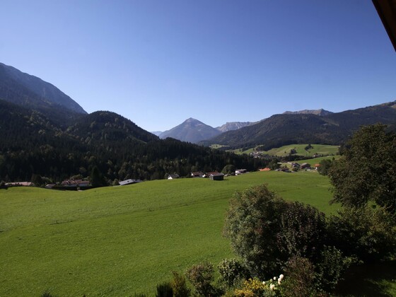
[[[396,101],[344,112],[328,110],[286,111],[260,122],[231,122],[214,128],[192,118],[173,129],[158,134],[181,141],[223,148],[264,146],[274,148],[286,144],[342,144],[361,125],[381,122],[390,129],[396,124]]]

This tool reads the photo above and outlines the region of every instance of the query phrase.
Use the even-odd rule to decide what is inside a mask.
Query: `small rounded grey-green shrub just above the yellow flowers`
[[[226,283],[228,287],[234,286],[240,279],[248,276],[248,269],[235,259],[224,259],[217,268],[221,275],[221,281]]]

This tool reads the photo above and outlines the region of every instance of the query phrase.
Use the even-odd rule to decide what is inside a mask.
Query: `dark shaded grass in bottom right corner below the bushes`
[[[396,260],[350,267],[340,281],[337,296],[395,296]],[[392,291],[392,292],[391,292]]]

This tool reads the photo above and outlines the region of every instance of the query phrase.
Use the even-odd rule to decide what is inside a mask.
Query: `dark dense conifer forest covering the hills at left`
[[[0,100],[0,180],[59,182],[88,177],[155,180],[170,173],[221,171],[225,165],[257,170],[267,162],[176,139],[159,139],[114,112],[78,115],[73,122]],[[38,177],[38,178],[37,178]]]

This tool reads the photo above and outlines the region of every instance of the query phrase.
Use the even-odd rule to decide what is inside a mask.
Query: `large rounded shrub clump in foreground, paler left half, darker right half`
[[[276,197],[265,185],[235,193],[224,231],[252,276],[279,272],[294,256],[316,260],[327,233],[325,214]]]

